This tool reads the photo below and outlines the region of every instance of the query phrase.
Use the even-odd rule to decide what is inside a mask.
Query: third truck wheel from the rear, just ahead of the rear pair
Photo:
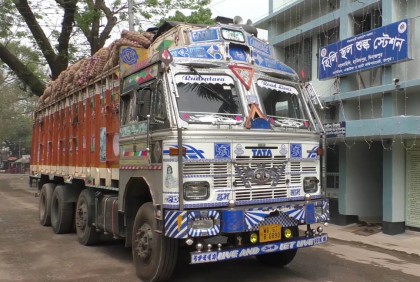
[[[80,244],[94,245],[99,242],[100,233],[96,231],[95,221],[95,196],[89,189],[83,190],[76,205],[76,233]]]

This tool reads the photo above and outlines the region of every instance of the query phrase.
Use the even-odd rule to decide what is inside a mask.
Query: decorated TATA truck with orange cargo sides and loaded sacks
[[[124,240],[143,281],[179,250],[281,267],[327,242],[322,105],[255,27],[169,22],[98,53],[34,113],[41,225]]]

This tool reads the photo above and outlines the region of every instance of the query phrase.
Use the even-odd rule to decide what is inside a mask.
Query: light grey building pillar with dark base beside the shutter
[[[405,149],[394,142],[383,151],[383,221],[382,232],[396,235],[405,232]]]

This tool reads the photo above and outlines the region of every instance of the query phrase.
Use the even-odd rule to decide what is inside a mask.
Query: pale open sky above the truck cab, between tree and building
[[[233,18],[240,16],[245,22],[264,18],[268,14],[268,0],[212,0],[210,4],[212,16]]]

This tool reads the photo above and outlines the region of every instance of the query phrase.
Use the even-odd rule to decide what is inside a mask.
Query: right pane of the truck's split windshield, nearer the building
[[[296,88],[260,79],[257,89],[265,114],[275,126],[306,127]]]

